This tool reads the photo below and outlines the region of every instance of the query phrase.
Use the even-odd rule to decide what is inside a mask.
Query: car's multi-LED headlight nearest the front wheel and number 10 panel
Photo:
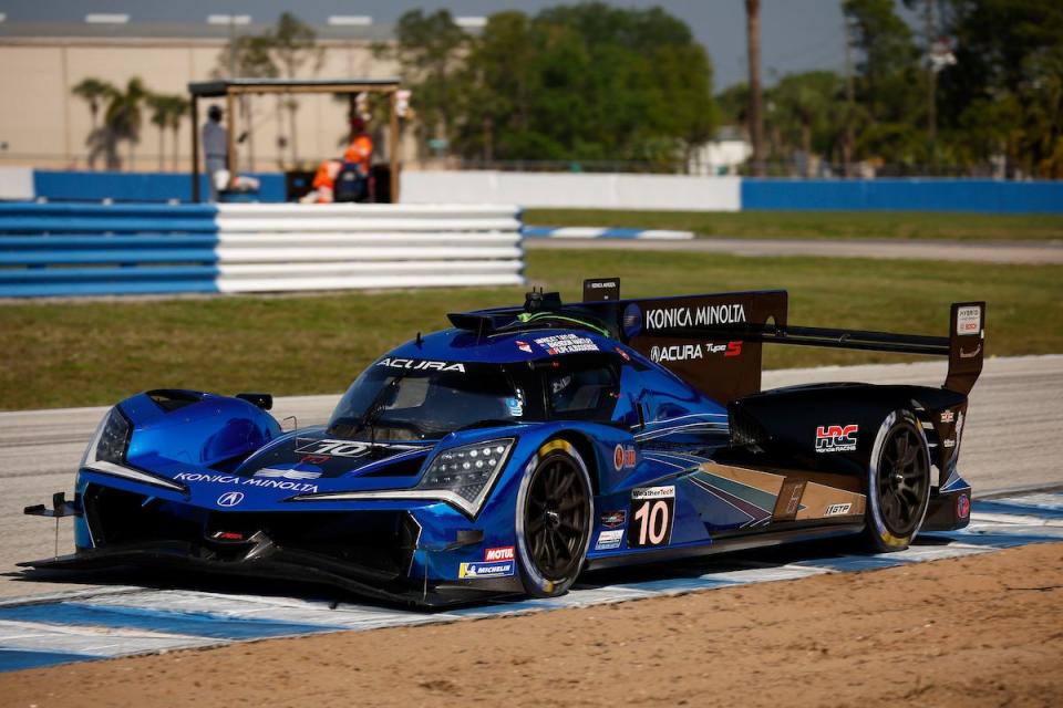
[[[457,499],[448,501],[475,514],[502,471],[513,442],[514,438],[503,438],[441,450],[416,488],[452,492]]]

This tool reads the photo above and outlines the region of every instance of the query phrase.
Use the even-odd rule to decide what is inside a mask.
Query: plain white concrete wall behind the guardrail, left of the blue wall
[[[523,207],[737,211],[739,177],[574,173],[412,171],[402,174],[402,201],[421,205],[519,204]]]

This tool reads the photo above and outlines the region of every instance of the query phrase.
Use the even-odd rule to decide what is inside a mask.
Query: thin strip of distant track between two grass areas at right
[[[1052,266],[1063,263],[1063,242],[968,242],[833,239],[696,238],[691,241],[639,239],[525,239],[527,249],[622,249],[731,256],[808,256],[815,258],[878,258],[929,261],[972,261]]]

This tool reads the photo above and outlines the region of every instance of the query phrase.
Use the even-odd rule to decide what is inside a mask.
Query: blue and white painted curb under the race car
[[[427,614],[376,605],[182,590],[102,587],[0,602],[0,671],[270,637],[365,631],[582,607],[679,595],[824,573],[895,568],[1063,542],[1063,493],[974,502],[962,531],[927,533],[930,543],[885,555],[836,554],[770,563],[742,555],[660,566],[649,581],[576,586],[563,597],[493,602]],[[723,569],[723,570],[720,570]],[[709,570],[710,572],[705,572]],[[643,570],[641,576],[647,573]],[[616,576],[616,573],[612,574]]]

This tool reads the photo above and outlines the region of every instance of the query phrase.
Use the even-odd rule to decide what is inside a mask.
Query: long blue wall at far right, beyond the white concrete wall
[[[745,178],[742,209],[1063,214],[1063,181]]]

